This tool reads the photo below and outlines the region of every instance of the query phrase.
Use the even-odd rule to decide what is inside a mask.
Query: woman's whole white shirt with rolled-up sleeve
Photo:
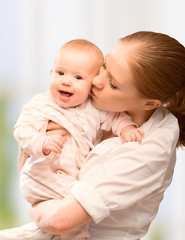
[[[177,119],[159,108],[141,127],[142,144],[122,144],[118,137],[98,144],[71,190],[94,219],[91,240],[143,237],[171,183],[179,138]]]

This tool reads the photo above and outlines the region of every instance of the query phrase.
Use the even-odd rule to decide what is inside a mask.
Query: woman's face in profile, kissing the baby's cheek
[[[93,80],[92,103],[101,110],[135,113],[141,110],[143,98],[134,85],[127,56],[132,46],[118,42],[105,57],[105,64]]]

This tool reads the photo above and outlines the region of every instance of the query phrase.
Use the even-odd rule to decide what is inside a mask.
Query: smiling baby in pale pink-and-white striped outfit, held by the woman
[[[102,52],[93,43],[83,39],[65,43],[55,57],[49,91],[24,105],[14,135],[20,161],[25,162],[20,173],[21,192],[30,204],[70,193],[85,157],[100,142],[102,131],[112,130],[123,142],[127,141],[126,135],[131,141],[141,142],[143,132],[128,114],[100,111],[91,103],[92,80],[103,62]],[[46,136],[49,121],[61,125],[69,134]],[[77,233],[79,238],[89,238],[83,227],[60,239],[71,239]],[[33,223],[1,231],[1,236],[9,240],[52,238]]]

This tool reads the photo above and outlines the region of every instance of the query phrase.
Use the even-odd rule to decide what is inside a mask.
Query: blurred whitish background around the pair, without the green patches
[[[106,54],[118,38],[151,30],[185,45],[184,12],[184,0],[0,0],[0,94],[8,98],[10,128],[22,105],[48,89],[54,56],[63,43],[86,38]],[[17,145],[10,142],[7,149],[14,149],[10,161],[15,172],[10,196],[22,224],[28,220],[28,205],[18,189]],[[184,172],[185,151],[180,150],[173,183],[147,240],[155,234],[156,240],[184,240]]]

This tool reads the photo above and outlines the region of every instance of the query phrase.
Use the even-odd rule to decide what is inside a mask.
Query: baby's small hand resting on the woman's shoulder
[[[126,142],[138,142],[142,143],[142,137],[144,137],[144,131],[141,128],[135,126],[128,126],[121,130],[122,143]]]

